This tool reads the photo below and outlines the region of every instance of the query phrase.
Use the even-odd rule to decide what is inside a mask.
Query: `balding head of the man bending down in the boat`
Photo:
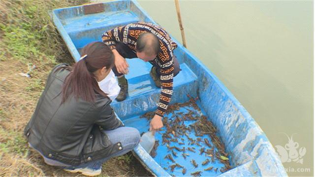
[[[139,35],[136,51],[144,52],[146,55],[157,55],[159,50],[158,37],[152,33],[143,33]]]

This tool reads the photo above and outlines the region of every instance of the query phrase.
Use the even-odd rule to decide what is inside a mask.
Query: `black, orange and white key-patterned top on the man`
[[[157,71],[162,82],[156,114],[163,116],[173,94],[173,50],[177,47],[177,44],[160,26],[145,22],[131,23],[126,26],[116,27],[105,32],[102,35],[102,40],[111,49],[115,49],[116,42],[123,42],[136,52],[135,44],[139,35],[147,32],[155,34],[160,44],[160,51],[157,57],[153,61],[150,61],[150,63],[158,68]]]

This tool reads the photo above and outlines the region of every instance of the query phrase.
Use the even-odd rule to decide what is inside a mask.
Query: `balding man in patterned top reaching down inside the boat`
[[[121,87],[117,101],[125,100],[128,91],[128,82],[124,74],[128,73],[129,66],[125,58],[139,58],[153,65],[150,75],[155,85],[161,87],[161,93],[156,114],[150,122],[150,129],[162,128],[161,119],[173,94],[173,77],[181,71],[173,55],[177,44],[160,26],[144,22],[131,23],[107,31],[102,35],[102,40],[110,46],[115,55],[113,71]]]

